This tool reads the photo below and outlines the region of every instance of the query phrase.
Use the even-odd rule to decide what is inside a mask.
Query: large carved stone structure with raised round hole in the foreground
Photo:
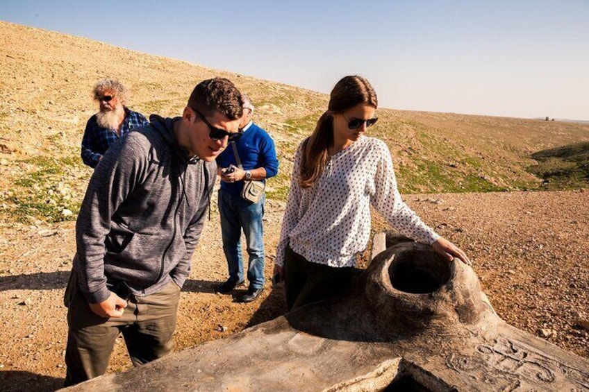
[[[583,391],[589,361],[502,321],[469,266],[382,233],[349,295],[70,389]]]

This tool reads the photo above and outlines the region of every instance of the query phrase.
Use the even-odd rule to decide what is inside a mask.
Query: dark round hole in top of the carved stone
[[[450,264],[433,250],[406,250],[395,255],[388,273],[399,291],[433,293],[450,279]]]

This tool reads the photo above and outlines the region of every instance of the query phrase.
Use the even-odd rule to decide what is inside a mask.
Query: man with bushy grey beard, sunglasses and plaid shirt
[[[84,163],[94,168],[108,147],[133,128],[147,125],[149,121],[143,114],[126,108],[128,92],[119,80],[99,80],[92,92],[100,111],[86,123],[81,155]]]

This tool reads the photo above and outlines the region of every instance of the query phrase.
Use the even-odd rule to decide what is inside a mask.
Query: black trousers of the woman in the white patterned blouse
[[[352,271],[353,267],[337,268],[309,262],[288,246],[284,262],[288,310],[347,293],[351,289]]]

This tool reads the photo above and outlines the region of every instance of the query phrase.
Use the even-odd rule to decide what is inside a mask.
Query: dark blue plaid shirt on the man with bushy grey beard
[[[86,123],[84,130],[84,137],[82,138],[82,160],[85,164],[90,167],[96,167],[100,158],[108,147],[117,142],[119,137],[122,137],[129,133],[134,128],[140,128],[149,124],[149,121],[139,112],[133,112],[133,110],[125,109],[125,119],[121,126],[121,135],[117,135],[116,130],[103,128],[98,125],[96,114],[94,114]]]

